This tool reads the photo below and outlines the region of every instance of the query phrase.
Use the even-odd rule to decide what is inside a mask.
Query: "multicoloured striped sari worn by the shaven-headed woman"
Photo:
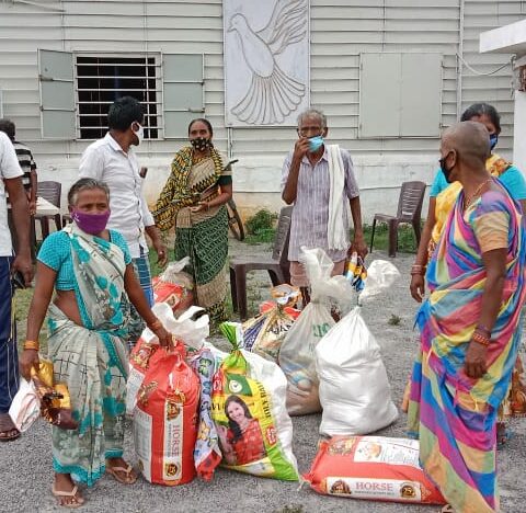
[[[409,402],[409,431],[420,438],[421,464],[454,510],[462,513],[499,510],[496,414],[517,357],[526,290],[519,207],[504,190],[482,197],[484,202],[478,198],[464,213],[464,192],[458,195],[428,265],[431,294],[418,315],[421,355]],[[464,365],[485,284],[474,227],[481,220],[491,224],[495,213],[508,218],[506,278],[488,372],[472,379]]]

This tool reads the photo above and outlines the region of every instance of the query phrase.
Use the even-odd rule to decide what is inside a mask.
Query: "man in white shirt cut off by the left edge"
[[[19,357],[16,353],[16,324],[12,322],[14,273],[26,286],[33,280],[30,250],[30,206],[22,184],[22,169],[9,137],[0,132],[0,442],[20,436],[9,417],[9,408],[19,389]],[[8,225],[5,193],[11,200],[13,225],[16,230],[16,256]]]

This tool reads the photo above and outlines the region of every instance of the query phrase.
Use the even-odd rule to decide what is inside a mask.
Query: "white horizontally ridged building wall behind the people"
[[[38,2],[45,8],[38,7]],[[481,72],[489,73],[505,64],[507,55],[479,53],[479,35],[524,19],[526,1],[310,0],[310,5],[311,104],[325,111],[331,141],[352,152],[366,221],[375,212],[395,212],[402,181],[421,178],[431,182],[438,140],[358,138],[361,53],[443,54],[443,126],[454,123],[458,111],[473,102],[493,103],[503,123],[499,151],[511,157],[511,69],[481,77],[461,66],[459,89],[457,53],[462,47],[464,59]],[[217,147],[226,152],[230,137],[232,157],[240,159],[235,170],[239,206],[245,212],[259,205],[277,209],[279,170],[295,133],[289,127],[242,127],[228,132],[224,117],[221,0],[36,0],[34,4],[0,1],[0,89],[4,115],[16,123],[19,138],[33,149],[41,180],[58,180],[66,192],[90,141],[42,138],[37,49],[203,53],[205,115],[215,127]],[[138,155],[141,164],[150,169],[145,187],[153,202],[173,153],[183,141],[145,142]]]

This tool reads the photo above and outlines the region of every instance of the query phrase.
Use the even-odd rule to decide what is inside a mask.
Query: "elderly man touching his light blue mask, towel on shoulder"
[[[334,262],[333,275],[343,274],[345,261],[356,251],[365,258],[359,190],[348,151],[325,145],[325,115],[309,109],[298,117],[298,139],[282,171],[282,197],[294,204],[288,260],[290,283],[301,288],[304,304],[310,300],[309,282],[300,263],[301,247],[321,248]],[[348,239],[347,202],[354,225]]]

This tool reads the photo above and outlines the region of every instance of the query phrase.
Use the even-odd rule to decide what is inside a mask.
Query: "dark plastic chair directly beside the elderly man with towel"
[[[247,273],[250,271],[267,271],[272,285],[281,285],[290,281],[288,262],[288,241],[293,207],[282,208],[277,221],[276,237],[272,255],[254,260],[232,259],[230,261],[230,292],[233,311],[239,310],[241,320],[247,319]]]

